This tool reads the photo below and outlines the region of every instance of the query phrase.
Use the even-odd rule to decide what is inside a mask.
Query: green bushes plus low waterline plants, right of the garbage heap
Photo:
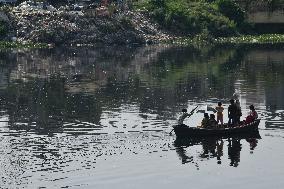
[[[278,1],[271,0],[270,4]],[[284,43],[284,35],[257,35],[246,21],[245,11],[233,0],[146,0],[137,9],[175,34],[170,43],[200,45],[208,43],[266,44]],[[254,35],[247,35],[252,34]]]

